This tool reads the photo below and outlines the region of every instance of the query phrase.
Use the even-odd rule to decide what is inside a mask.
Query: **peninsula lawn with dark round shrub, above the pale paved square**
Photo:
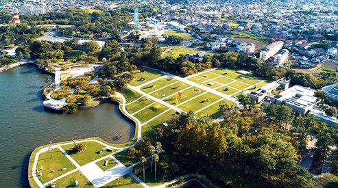
[[[99,150],[102,150],[102,148],[105,148],[105,146],[102,146],[101,144],[97,142],[83,142],[86,146],[86,151],[75,153],[71,148],[73,148],[74,144],[68,144],[65,146],[62,146],[64,150],[79,164],[79,165],[86,165],[86,163],[90,163],[91,161],[94,161],[96,159],[99,159],[101,157],[104,157],[106,155],[109,155],[110,153],[114,152],[101,152],[98,153]]]

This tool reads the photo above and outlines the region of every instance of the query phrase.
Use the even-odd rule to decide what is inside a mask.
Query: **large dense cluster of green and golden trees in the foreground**
[[[298,165],[297,138],[259,114],[235,111],[218,124],[184,113],[156,134],[180,167],[231,187],[314,187]]]

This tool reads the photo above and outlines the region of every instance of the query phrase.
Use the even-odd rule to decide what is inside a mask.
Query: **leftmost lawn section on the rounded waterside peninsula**
[[[42,183],[47,183],[75,169],[75,165],[73,165],[58,148],[40,154],[36,170],[40,171],[41,166],[43,168],[43,176],[38,176],[38,178]],[[67,170],[61,170],[62,168],[67,168]],[[54,170],[54,172],[51,172],[52,170]]]

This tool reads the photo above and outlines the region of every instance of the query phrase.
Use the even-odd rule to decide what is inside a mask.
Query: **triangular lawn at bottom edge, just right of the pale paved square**
[[[113,180],[112,182],[104,185],[101,188],[110,188],[110,187],[119,187],[119,188],[142,188],[143,186],[138,183],[132,176],[126,174],[121,176],[117,180]]]

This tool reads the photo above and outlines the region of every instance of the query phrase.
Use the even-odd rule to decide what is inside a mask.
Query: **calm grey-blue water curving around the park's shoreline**
[[[49,140],[101,137],[119,144],[134,135],[134,125],[117,105],[101,104],[71,115],[45,109],[40,86],[46,76],[28,65],[0,73],[0,187],[29,187],[29,155]]]

